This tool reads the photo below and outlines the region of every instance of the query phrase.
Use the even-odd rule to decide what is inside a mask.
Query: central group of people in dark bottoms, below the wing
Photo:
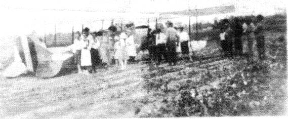
[[[149,34],[150,59],[156,61],[157,65],[160,65],[163,59],[169,65],[177,65],[179,54],[188,55],[191,60],[189,35],[184,31],[184,27],[173,27],[173,23],[170,21],[166,25],[167,28],[162,23],[158,23],[157,28]]]

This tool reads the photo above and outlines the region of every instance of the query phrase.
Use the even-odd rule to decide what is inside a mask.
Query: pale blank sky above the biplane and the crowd
[[[201,9],[218,6],[235,6],[235,12],[222,15],[198,17],[200,22],[239,15],[273,15],[283,12],[285,0],[2,0],[0,2],[1,30],[6,35],[28,34],[35,30],[38,34],[71,32],[85,27],[97,30],[107,28],[114,22],[133,21],[136,25],[146,25],[147,19],[152,26],[155,17],[161,12]],[[147,14],[151,13],[151,14]],[[152,14],[153,13],[153,14]],[[172,21],[188,24],[188,16],[178,16]],[[161,22],[164,22],[161,21]],[[195,22],[195,18],[191,18]]]

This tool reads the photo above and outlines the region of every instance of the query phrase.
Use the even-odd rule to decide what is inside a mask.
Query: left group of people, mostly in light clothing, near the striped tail
[[[112,60],[120,69],[125,69],[127,61],[135,59],[134,24],[128,23],[125,27],[111,25],[108,29],[91,33],[86,27],[83,33],[75,32],[71,49],[78,72],[94,73],[97,67],[107,66]]]

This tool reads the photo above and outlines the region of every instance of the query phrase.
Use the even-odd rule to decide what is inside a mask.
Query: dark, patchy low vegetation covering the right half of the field
[[[142,105],[136,114],[140,117],[285,114],[286,39],[283,33],[266,34],[264,62],[215,57],[150,69],[143,76],[148,96],[140,101]],[[202,54],[207,54],[204,52],[208,49],[219,51],[217,47],[209,47]],[[215,54],[219,53],[211,55]]]

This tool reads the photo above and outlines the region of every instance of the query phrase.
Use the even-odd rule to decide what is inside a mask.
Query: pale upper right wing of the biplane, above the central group
[[[222,7],[213,7],[213,8],[204,8],[197,10],[183,10],[183,11],[175,11],[175,12],[163,12],[160,13],[159,16],[162,15],[187,15],[187,16],[207,16],[214,14],[225,14],[225,13],[233,13],[235,11],[234,6],[222,6]]]

